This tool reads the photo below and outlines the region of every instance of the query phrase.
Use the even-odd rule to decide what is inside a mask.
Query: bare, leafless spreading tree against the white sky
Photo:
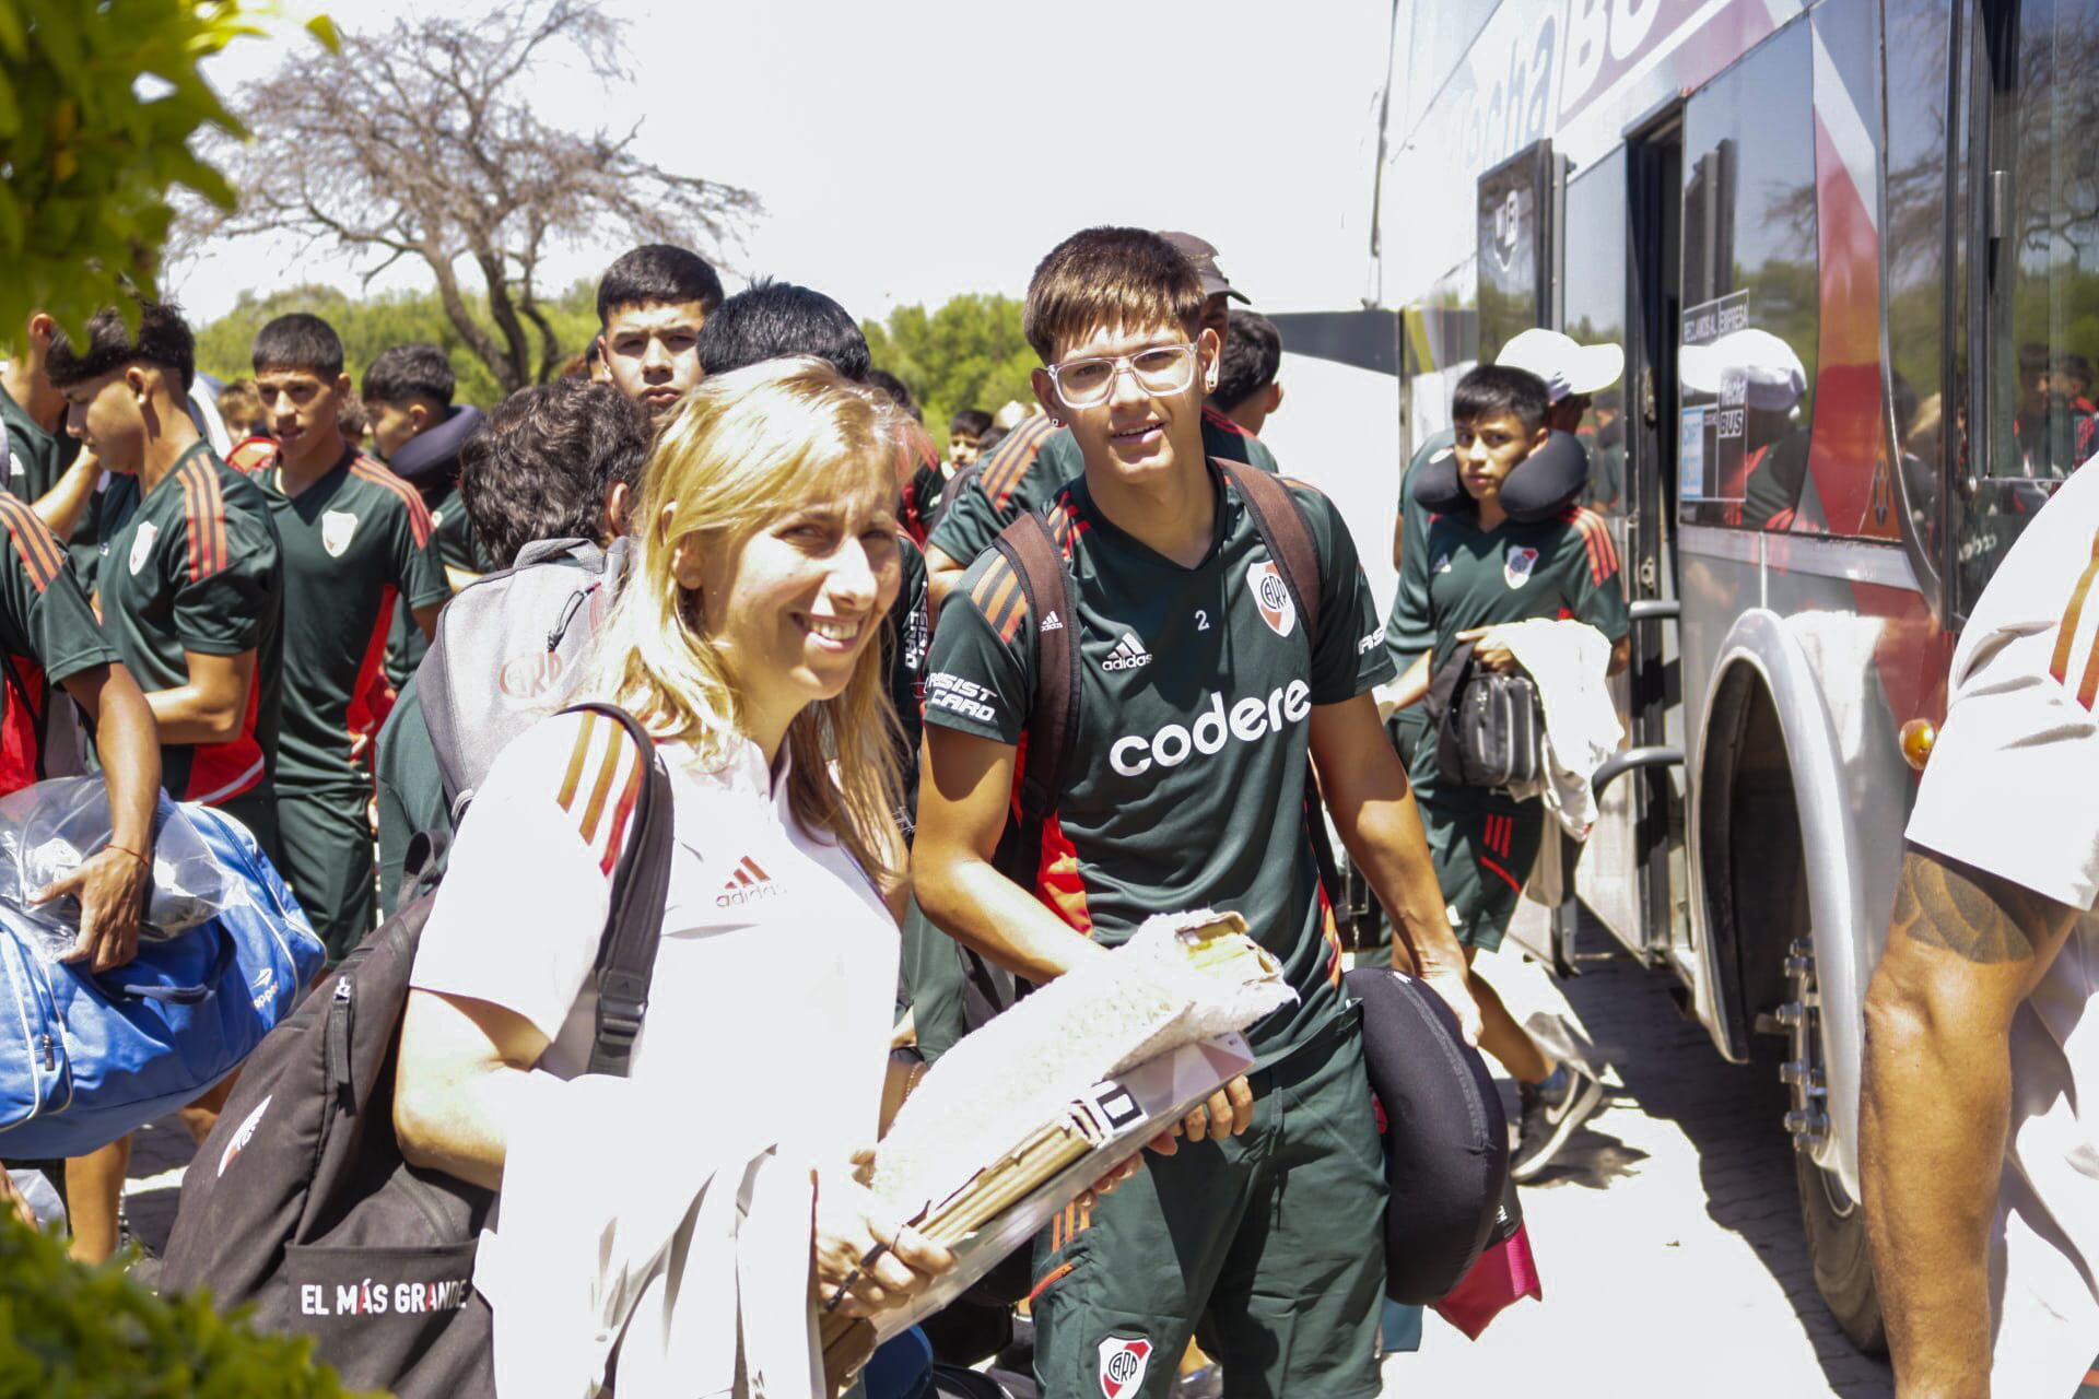
[[[613,239],[718,245],[758,210],[745,189],[634,155],[638,128],[565,132],[533,113],[544,61],[563,48],[602,82],[623,78],[619,31],[592,0],[504,0],[481,19],[399,19],[344,36],[338,52],[298,55],[241,94],[254,141],[229,157],[239,208],[195,233],[334,243],[365,260],[367,283],[420,258],[506,394],[546,382],[563,361],[539,287],[548,254]]]

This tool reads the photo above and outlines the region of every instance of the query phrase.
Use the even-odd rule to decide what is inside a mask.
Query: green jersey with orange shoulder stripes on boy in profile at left
[[[197,440],[141,499],[139,478],[109,491],[99,598],[103,633],[139,688],[189,684],[185,652],[256,652],[241,732],[227,742],[164,742],[160,780],[176,801],[218,805],[277,766],[283,677],[283,550],[254,480]]]

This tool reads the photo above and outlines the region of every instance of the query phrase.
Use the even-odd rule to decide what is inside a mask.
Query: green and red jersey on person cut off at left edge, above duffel
[[[50,690],[67,675],[115,665],[118,652],[94,623],[94,608],[73,577],[65,550],[44,522],[13,495],[0,495],[0,665],[13,677],[0,686],[0,793],[44,776],[78,772],[80,755],[46,766]],[[63,726],[71,730],[67,722]],[[55,755],[52,755],[55,757]]]

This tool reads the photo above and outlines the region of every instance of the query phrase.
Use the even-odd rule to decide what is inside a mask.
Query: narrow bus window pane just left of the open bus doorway
[[[1562,329],[1583,344],[1625,348],[1625,147],[1568,180]],[[1589,449],[1583,503],[1610,520],[1625,550],[1625,380],[1595,394],[1576,434]]]

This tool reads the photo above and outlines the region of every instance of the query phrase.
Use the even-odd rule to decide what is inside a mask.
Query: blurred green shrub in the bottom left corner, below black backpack
[[[204,1296],[153,1296],[0,1210],[0,1399],[336,1397],[313,1342],[258,1336]]]

